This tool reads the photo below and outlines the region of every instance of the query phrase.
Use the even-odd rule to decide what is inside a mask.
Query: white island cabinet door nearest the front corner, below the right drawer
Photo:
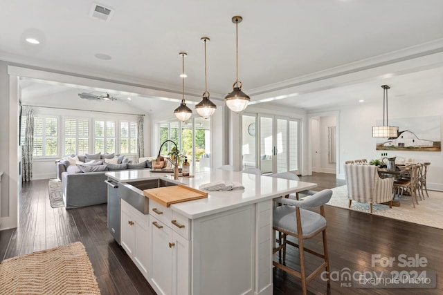
[[[172,294],[190,294],[190,241],[172,231]]]

